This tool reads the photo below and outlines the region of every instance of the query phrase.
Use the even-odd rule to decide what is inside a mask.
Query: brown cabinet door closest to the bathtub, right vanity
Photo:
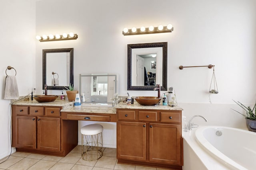
[[[180,165],[180,125],[150,123],[149,126],[149,160]]]

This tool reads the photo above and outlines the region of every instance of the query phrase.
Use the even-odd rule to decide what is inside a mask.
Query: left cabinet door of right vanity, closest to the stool
[[[146,123],[117,123],[117,158],[146,160]]]

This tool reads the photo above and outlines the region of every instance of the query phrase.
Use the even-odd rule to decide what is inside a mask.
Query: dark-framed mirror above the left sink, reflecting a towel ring
[[[74,84],[74,48],[43,49],[43,81],[48,90],[63,90]]]

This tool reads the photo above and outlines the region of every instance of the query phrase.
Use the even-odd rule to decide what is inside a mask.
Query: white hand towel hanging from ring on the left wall
[[[19,98],[19,90],[18,90],[16,76],[6,76],[4,99],[18,99],[18,98]]]

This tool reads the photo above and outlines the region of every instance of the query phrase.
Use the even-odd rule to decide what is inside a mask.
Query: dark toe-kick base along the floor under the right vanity
[[[166,168],[166,169],[172,169],[172,170],[174,170],[174,169],[182,170],[182,166],[179,166],[179,165],[158,164],[158,163],[140,162],[140,161],[134,161],[134,160],[118,159],[118,163],[129,164],[129,165],[150,166],[150,167],[156,167],[156,168]]]

